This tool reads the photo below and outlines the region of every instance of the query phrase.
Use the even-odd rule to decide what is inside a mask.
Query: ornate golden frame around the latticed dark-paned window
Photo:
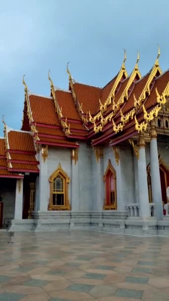
[[[63,179],[64,205],[53,205],[53,180],[58,175]],[[60,163],[57,169],[49,177],[49,183],[50,183],[50,198],[49,198],[48,210],[71,210],[69,195],[68,195],[69,192],[68,185],[70,183],[70,177],[63,170]]]

